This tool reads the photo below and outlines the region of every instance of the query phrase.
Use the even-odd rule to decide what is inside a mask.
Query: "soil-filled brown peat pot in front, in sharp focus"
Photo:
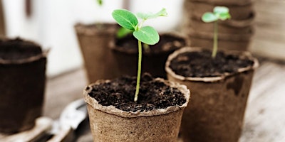
[[[88,104],[93,141],[177,141],[182,113],[190,99],[189,89],[185,85],[168,82],[160,78],[149,80],[148,77],[142,77],[138,102],[134,102],[136,77],[131,79],[123,77],[120,80],[123,80],[123,83],[118,82],[118,80],[98,80],[86,87],[83,92],[84,99]],[[162,84],[165,85],[162,87],[164,89],[155,89],[163,86]],[[114,89],[110,89],[110,87],[114,87]],[[152,95],[153,89],[157,90],[158,94],[154,93],[157,96],[162,97],[166,94],[167,98],[171,98],[168,100],[170,104],[173,104],[164,106],[165,99],[157,99],[154,96],[147,97],[147,95]],[[110,92],[113,92],[112,94],[115,96],[110,95]],[[149,94],[145,95],[145,92],[149,92]],[[103,96],[107,96],[108,100],[113,100],[111,102],[113,104],[109,105],[105,99],[102,99]],[[125,99],[125,103],[120,103],[118,99],[121,98],[129,98],[130,100]],[[162,106],[160,108],[154,107],[156,104],[149,101],[145,102],[147,98],[157,99],[158,102],[162,103]],[[177,102],[180,104],[176,104]],[[130,104],[130,106],[125,106],[125,104]]]

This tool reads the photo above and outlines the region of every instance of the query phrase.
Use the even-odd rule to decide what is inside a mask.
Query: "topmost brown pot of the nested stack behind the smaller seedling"
[[[201,19],[202,15],[206,12],[213,11],[215,6],[220,4],[211,4],[206,2],[185,1],[185,10],[190,13],[191,18]],[[222,5],[223,6],[223,5]],[[253,4],[246,4],[242,6],[225,5],[229,8],[231,19],[233,20],[246,20],[254,14]]]

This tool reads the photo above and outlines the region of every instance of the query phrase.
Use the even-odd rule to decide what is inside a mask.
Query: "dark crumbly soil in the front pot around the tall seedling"
[[[94,85],[89,93],[103,106],[113,105],[123,111],[150,111],[182,105],[186,99],[177,88],[142,75],[138,102],[134,102],[136,77],[120,77],[111,82]]]

